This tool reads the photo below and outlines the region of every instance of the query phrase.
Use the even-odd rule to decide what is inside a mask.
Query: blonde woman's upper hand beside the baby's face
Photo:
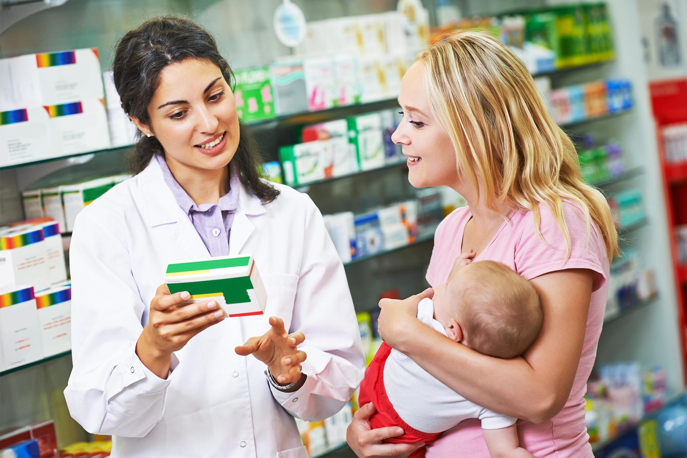
[[[425,289],[420,294],[410,296],[407,299],[382,299],[379,301],[379,320],[378,332],[379,336],[392,348],[396,348],[403,352],[403,345],[412,337],[409,330],[414,324],[420,323],[418,321],[418,304],[421,300],[432,298],[434,290],[431,288]]]

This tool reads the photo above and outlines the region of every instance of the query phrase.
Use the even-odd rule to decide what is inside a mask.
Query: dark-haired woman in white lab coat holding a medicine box
[[[69,411],[119,457],[307,458],[294,418],[350,399],[363,352],[346,275],[308,195],[258,176],[214,38],[161,17],[117,45],[114,80],[142,138],[136,175],[71,239]],[[251,254],[264,315],[179,306],[166,265]]]

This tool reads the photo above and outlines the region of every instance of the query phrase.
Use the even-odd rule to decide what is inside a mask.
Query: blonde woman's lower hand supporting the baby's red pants
[[[359,458],[396,457],[407,458],[425,444],[385,444],[383,441],[390,437],[403,434],[398,426],[372,429],[370,417],[374,413],[372,402],[363,405],[354,415],[353,421],[346,430],[346,442]]]

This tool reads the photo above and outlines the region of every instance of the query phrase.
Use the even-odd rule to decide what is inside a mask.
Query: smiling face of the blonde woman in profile
[[[410,184],[416,188],[455,186],[458,180],[455,150],[449,134],[431,115],[422,62],[415,62],[403,76],[398,104],[403,119],[392,141],[403,147],[403,154],[408,158]]]

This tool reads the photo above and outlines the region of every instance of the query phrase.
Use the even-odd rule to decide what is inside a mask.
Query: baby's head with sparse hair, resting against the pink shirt
[[[495,261],[454,268],[435,289],[434,316],[451,339],[499,358],[517,357],[530,348],[543,320],[534,286]]]

